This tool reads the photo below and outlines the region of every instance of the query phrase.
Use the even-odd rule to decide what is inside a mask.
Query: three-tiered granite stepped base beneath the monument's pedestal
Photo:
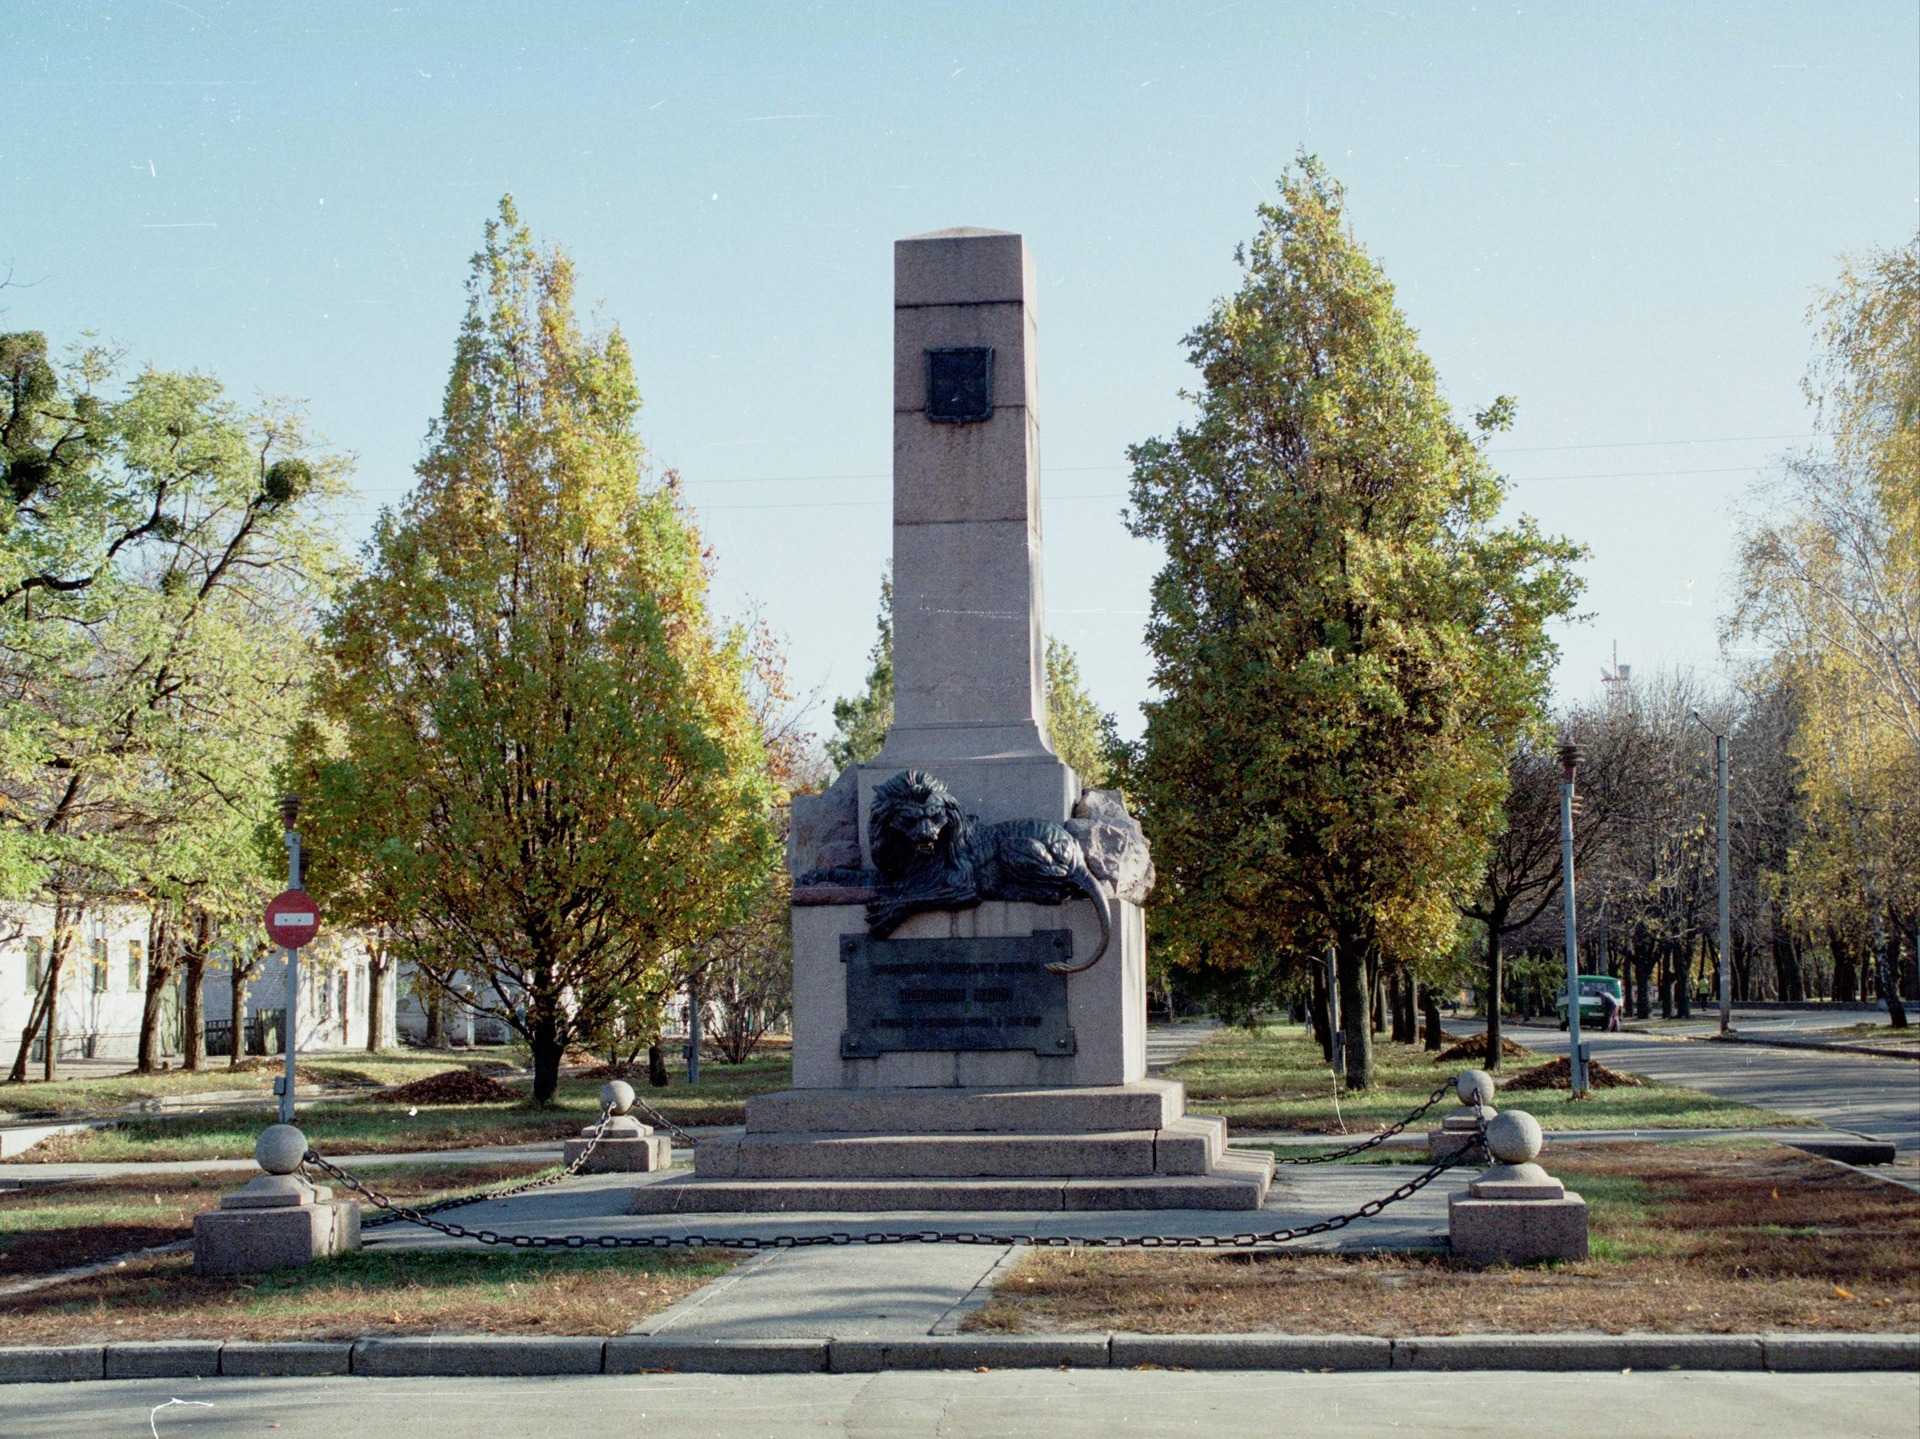
[[[1171,1080],[1073,1089],[789,1089],[701,1139],[636,1214],[1260,1208],[1271,1155],[1231,1153]]]

